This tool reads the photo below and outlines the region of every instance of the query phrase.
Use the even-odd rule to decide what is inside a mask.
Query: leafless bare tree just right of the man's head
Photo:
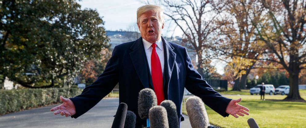
[[[213,0],[164,0],[164,14],[183,31],[184,43],[192,44],[197,56],[197,71],[203,75],[209,73],[210,62],[214,57],[210,49],[213,34],[219,28],[216,24],[223,5]]]

